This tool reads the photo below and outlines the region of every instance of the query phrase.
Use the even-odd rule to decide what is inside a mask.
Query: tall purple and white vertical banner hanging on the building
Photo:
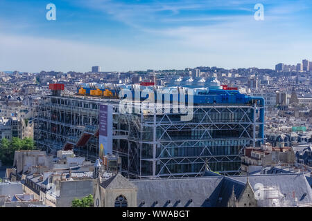
[[[112,106],[100,105],[99,117],[99,157],[112,154]]]

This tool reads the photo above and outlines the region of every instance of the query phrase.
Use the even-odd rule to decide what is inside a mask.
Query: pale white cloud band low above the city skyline
[[[293,41],[280,47],[266,41],[245,42],[243,33],[222,36],[203,31],[189,35],[192,30],[180,30],[183,32],[187,33],[184,38],[175,44],[159,44],[155,46],[157,50],[153,46],[146,50],[121,50],[76,41],[0,35],[0,70],[85,72],[94,65],[107,71],[196,66],[273,68],[279,61],[296,64],[302,58],[312,59],[308,53],[312,46],[307,42]]]

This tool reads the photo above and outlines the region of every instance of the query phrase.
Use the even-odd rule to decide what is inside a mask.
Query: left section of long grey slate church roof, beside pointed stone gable
[[[212,207],[216,205],[222,176],[132,180],[138,187],[140,207]]]

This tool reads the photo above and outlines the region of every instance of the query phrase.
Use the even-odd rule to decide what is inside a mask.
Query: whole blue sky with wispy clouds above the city
[[[0,0],[0,70],[274,68],[312,60],[311,21],[300,0]]]

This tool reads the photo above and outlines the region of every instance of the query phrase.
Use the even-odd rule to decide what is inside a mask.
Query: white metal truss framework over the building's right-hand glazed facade
[[[159,111],[159,107],[157,108]],[[128,114],[130,125],[129,141],[132,143],[132,145],[129,145],[129,165],[132,165],[132,167],[131,169],[130,167],[128,168],[128,175],[139,178],[198,176],[205,171],[205,162],[207,161],[209,164],[234,162],[236,163],[235,169],[216,170],[216,172],[224,175],[239,174],[243,150],[262,141],[259,135],[259,125],[264,124],[264,122],[259,120],[260,108],[262,107],[251,105],[194,106],[194,117],[190,122],[172,119],[175,116],[172,106],[169,111],[168,109],[166,110],[167,112],[164,108],[160,108],[160,113],[162,113],[160,115],[154,113]],[[157,111],[155,112],[157,113]],[[201,115],[201,118],[196,115]],[[153,133],[153,128],[156,128],[155,131],[160,131],[156,139],[154,138],[153,140],[152,135],[150,140],[142,139],[144,128],[148,127],[150,128],[148,131],[151,133]],[[171,135],[171,132],[177,131],[201,131],[201,135],[196,138],[189,137],[189,139]],[[236,131],[237,135],[235,137],[224,136],[216,138],[211,134],[213,131]],[[236,153],[223,153],[221,155],[211,153],[210,147],[220,146],[211,144],[211,141],[223,142],[223,146],[233,146],[234,142],[236,142]],[[149,155],[147,157],[142,155],[142,145],[144,144],[151,144],[150,148],[153,148],[153,151],[150,152],[156,152],[157,155]],[[173,146],[180,149],[186,146],[191,148],[200,146],[201,149],[198,155],[175,156],[171,153]],[[150,174],[144,173],[143,164],[152,164],[150,166]],[[181,166],[183,164],[198,164],[200,166],[197,171],[183,173],[171,169],[172,166]]]

